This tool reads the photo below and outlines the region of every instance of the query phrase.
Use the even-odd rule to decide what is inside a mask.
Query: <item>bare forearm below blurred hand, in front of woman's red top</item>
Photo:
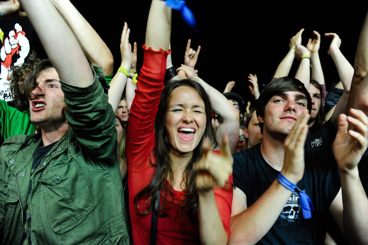
[[[198,192],[199,237],[202,244],[226,244],[227,234],[217,209],[213,189]]]

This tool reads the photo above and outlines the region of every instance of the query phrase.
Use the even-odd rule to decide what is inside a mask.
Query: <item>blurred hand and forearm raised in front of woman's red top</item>
[[[208,139],[204,140],[202,148],[203,155],[195,166],[199,198],[199,236],[202,244],[226,244],[227,234],[217,209],[213,187],[224,187],[233,172],[233,157],[227,136],[222,139],[220,155],[212,152]]]

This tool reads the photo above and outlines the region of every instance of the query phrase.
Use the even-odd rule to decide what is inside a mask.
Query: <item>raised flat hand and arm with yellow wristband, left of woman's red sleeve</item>
[[[131,53],[131,45],[129,43],[130,29],[128,29],[127,23],[124,24],[123,32],[121,33],[120,52],[121,52],[121,64],[120,67],[124,67],[127,71],[130,71],[131,64],[133,63],[133,54]],[[109,103],[116,112],[117,107],[123,94],[125,84],[127,82],[127,76],[122,72],[116,72],[113,79],[110,82],[109,89]]]

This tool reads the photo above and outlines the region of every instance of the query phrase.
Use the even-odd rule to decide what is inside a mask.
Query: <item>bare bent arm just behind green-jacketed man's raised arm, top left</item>
[[[74,32],[91,64],[102,67],[105,76],[111,75],[114,58],[98,33],[69,0],[52,0],[52,2]]]

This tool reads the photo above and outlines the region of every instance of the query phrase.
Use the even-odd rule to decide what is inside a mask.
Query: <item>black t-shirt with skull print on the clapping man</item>
[[[261,154],[261,143],[233,154],[234,186],[247,196],[250,207],[270,187],[279,173]],[[303,219],[299,195],[291,193],[289,201],[272,228],[257,244],[323,244],[328,208],[340,189],[336,162],[330,154],[305,150],[305,170],[298,187],[312,200],[315,211],[311,219]],[[264,214],[267,219],[267,213]],[[246,235],[246,234],[244,234]]]

